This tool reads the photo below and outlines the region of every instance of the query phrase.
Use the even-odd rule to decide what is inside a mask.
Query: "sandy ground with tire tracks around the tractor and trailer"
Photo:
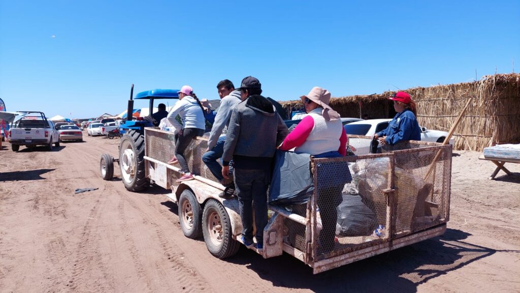
[[[293,257],[227,260],[185,238],[167,190],[130,193],[99,175],[119,139],[0,150],[0,292],[519,292],[520,164],[513,176],[453,156],[442,237],[313,275]],[[116,165],[117,167],[117,165]],[[74,194],[76,188],[98,190]]]

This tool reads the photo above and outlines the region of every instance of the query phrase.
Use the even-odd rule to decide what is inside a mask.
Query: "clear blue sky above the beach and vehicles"
[[[458,83],[519,72],[519,28],[518,0],[0,0],[0,98],[89,118],[126,109],[132,83],[215,99],[253,75],[277,100]]]

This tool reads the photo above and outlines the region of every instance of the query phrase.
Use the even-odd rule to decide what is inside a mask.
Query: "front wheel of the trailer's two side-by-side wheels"
[[[201,235],[202,209],[193,193],[186,189],[179,198],[179,222],[184,236],[197,239]]]

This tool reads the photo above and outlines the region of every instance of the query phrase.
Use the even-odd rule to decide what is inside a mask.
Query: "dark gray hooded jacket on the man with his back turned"
[[[231,113],[224,144],[223,164],[237,169],[270,169],[272,157],[289,133],[272,103],[253,95],[238,104]]]

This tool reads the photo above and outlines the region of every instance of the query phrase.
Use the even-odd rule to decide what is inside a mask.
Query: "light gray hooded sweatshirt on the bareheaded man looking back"
[[[222,135],[225,126],[229,127],[229,119],[231,118],[231,111],[237,106],[242,99],[240,98],[240,91],[232,91],[229,95],[220,100],[218,106],[217,116],[211,128],[210,138],[207,140],[207,148],[212,149],[217,144],[218,138]]]

